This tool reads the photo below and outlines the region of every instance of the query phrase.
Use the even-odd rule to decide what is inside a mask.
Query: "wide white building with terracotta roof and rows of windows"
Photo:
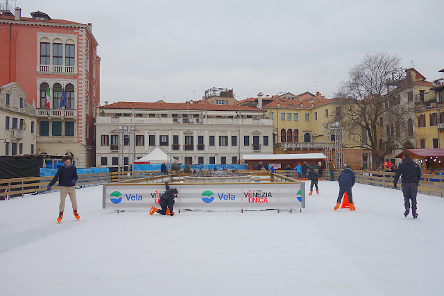
[[[208,103],[118,102],[99,107],[96,116],[97,166],[118,167],[119,126],[135,130],[135,159],[156,145],[182,164],[239,164],[244,154],[273,153],[273,122],[265,110]]]

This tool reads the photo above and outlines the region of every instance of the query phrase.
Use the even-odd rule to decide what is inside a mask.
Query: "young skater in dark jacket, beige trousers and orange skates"
[[[58,180],[58,184],[60,185],[60,205],[58,207],[60,213],[58,215],[58,222],[63,218],[63,211],[65,211],[65,199],[67,194],[69,194],[69,198],[71,198],[72,209],[74,211],[74,216],[77,220],[80,219],[80,216],[77,214],[77,198],[76,198],[76,182],[77,182],[77,168],[72,164],[71,155],[65,155],[62,158],[64,164],[60,166],[56,175],[53,177],[53,180],[49,182],[47,187],[48,191],[51,190],[53,184],[56,184]]]

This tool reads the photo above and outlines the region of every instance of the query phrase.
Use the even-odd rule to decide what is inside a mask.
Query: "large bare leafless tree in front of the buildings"
[[[393,83],[400,61],[398,55],[385,52],[364,55],[362,62],[348,72],[348,80],[339,83],[335,94],[336,118],[332,121],[341,123],[344,138],[350,143],[348,148],[370,150],[373,168],[377,168],[391,150],[402,145],[395,143],[396,136],[405,130],[402,127],[414,114],[413,104],[399,101],[399,94],[411,84],[408,81]]]

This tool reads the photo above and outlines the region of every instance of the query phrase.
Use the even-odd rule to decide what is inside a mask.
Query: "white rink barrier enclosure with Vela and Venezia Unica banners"
[[[164,182],[178,189],[173,211],[181,210],[266,210],[290,212],[305,209],[305,183],[279,174],[271,182],[189,183],[178,182],[178,175],[144,177],[103,184],[103,209],[159,208],[165,192]],[[176,182],[173,182],[176,181]]]

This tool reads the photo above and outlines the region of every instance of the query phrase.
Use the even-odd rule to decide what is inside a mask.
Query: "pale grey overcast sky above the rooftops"
[[[442,0],[10,3],[23,17],[40,10],[92,23],[101,105],[198,100],[212,87],[234,89],[239,101],[259,92],[332,98],[348,70],[377,51],[398,55],[429,81],[443,77]]]

